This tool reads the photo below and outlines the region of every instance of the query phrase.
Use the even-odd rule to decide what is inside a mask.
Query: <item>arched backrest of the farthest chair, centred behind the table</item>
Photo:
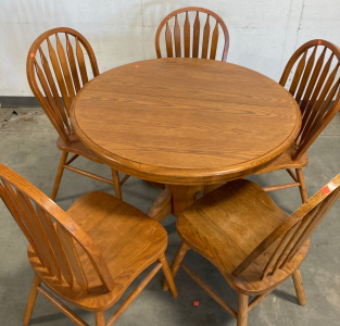
[[[196,18],[193,23],[193,33],[191,33],[190,21],[189,21],[189,12],[196,12]],[[185,15],[184,28],[180,29],[178,23],[178,15]],[[200,14],[204,15],[205,25],[203,29],[203,36],[200,37]],[[174,18],[175,17],[175,18]],[[213,30],[211,32],[210,17],[215,21],[213,23]],[[169,28],[169,22],[174,18],[174,41],[172,32]],[[204,23],[204,18],[203,18]],[[214,26],[215,25],[215,26]],[[187,7],[175,10],[171,14],[168,14],[160,24],[159,29],[155,34],[155,51],[158,58],[162,58],[161,47],[160,47],[160,36],[162,29],[165,26],[165,43],[166,43],[166,54],[167,58],[202,58],[202,59],[216,59],[217,46],[218,46],[218,26],[221,26],[224,34],[224,45],[222,49],[222,61],[227,60],[228,49],[229,49],[229,33],[224,21],[214,12],[199,7]],[[180,32],[182,30],[182,33]],[[182,37],[181,37],[182,34]],[[192,35],[192,38],[191,38]],[[181,39],[184,41],[181,41]],[[192,42],[191,42],[192,39]],[[174,45],[174,47],[173,47]],[[200,45],[202,50],[200,51]],[[175,51],[174,51],[175,50]]]

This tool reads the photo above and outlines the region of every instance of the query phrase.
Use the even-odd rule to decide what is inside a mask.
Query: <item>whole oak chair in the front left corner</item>
[[[58,298],[95,312],[97,326],[110,326],[160,268],[165,273],[173,296],[177,297],[164,254],[166,231],[159,222],[134,206],[104,192],[90,192],[64,212],[1,163],[0,197],[29,241],[28,260],[36,273],[24,325],[28,325],[40,292],[77,325],[88,324]],[[153,209],[154,212],[158,210]],[[105,323],[104,311],[155,262],[155,266]]]

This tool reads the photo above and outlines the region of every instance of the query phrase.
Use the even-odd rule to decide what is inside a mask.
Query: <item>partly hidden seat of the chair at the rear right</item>
[[[302,168],[306,166],[310,160],[307,152],[305,152],[299,160],[292,160],[297,150],[297,145],[291,145],[280,156],[277,158],[277,160],[254,174],[264,174],[282,168]]]

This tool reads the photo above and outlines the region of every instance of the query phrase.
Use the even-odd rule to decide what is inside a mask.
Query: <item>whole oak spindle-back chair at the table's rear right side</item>
[[[337,77],[339,62],[340,49],[325,40],[304,43],[288,61],[279,84],[284,87],[290,84],[289,92],[301,109],[301,130],[290,148],[255,174],[286,168],[293,183],[265,187],[265,191],[300,187],[302,202],[307,201],[302,167],[308,163],[307,149],[340,109],[340,78]]]

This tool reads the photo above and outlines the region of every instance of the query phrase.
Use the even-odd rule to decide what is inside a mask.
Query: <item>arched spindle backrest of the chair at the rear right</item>
[[[302,114],[294,160],[306,152],[340,109],[339,62],[340,49],[316,39],[301,46],[286,65],[279,83],[284,87],[290,83],[289,92]]]

